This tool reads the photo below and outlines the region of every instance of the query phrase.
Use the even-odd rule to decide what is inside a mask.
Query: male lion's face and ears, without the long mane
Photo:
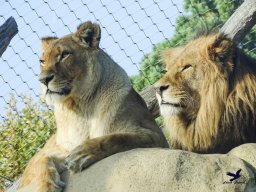
[[[190,121],[196,118],[211,82],[229,78],[232,42],[221,34],[203,36],[163,51],[162,58],[166,73],[155,85],[161,114],[182,115]]]

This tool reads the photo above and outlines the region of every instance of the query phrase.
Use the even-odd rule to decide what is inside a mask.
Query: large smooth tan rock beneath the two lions
[[[241,177],[230,182],[227,172]],[[71,175],[65,192],[255,192],[256,144],[228,154],[134,149],[108,157]],[[32,192],[34,185],[19,192]]]

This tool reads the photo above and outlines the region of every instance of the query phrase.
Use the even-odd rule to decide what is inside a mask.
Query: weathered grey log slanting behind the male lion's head
[[[233,41],[239,43],[256,23],[256,0],[245,0],[220,29]],[[149,111],[156,118],[159,116],[159,106],[153,85],[147,87],[140,95],[145,100]]]

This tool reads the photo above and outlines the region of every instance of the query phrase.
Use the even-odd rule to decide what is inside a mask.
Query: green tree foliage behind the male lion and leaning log
[[[242,0],[184,0],[184,14],[177,19],[175,34],[170,40],[157,44],[150,54],[144,56],[140,62],[139,75],[131,77],[134,88],[141,91],[162,76],[161,50],[182,45],[194,37],[198,29],[211,31],[220,28],[242,2]],[[247,54],[256,58],[255,38],[256,27],[244,38],[241,47]]]

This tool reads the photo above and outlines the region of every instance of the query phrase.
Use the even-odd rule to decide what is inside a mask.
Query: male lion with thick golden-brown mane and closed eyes
[[[256,141],[256,61],[223,34],[163,51],[157,99],[174,148],[225,153]]]

